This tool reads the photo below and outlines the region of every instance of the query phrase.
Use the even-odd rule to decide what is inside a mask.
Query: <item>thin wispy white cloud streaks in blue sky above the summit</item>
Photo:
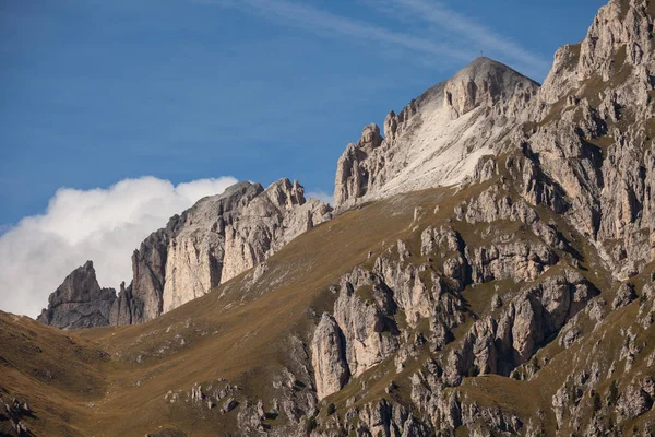
[[[515,64],[536,78],[545,75],[550,63],[515,42],[485,27],[475,20],[430,0],[358,0],[372,10],[396,19],[406,27],[409,17],[420,35],[384,28],[367,21],[355,20],[289,0],[193,0],[196,3],[235,8],[257,13],[267,20],[282,21],[308,32],[336,37],[349,37],[388,44],[414,54],[439,56],[455,62],[467,62],[484,49],[500,60]],[[329,3],[327,3],[329,4]],[[422,23],[422,27],[419,25]],[[437,29],[437,32],[436,32]],[[425,35],[428,35],[426,37]],[[445,37],[444,37],[445,36]],[[458,44],[437,43],[456,39]]]

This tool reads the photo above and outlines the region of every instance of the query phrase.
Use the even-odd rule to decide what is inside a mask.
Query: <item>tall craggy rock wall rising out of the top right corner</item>
[[[647,2],[602,8],[586,38],[557,52],[517,135],[524,197],[567,214],[619,279],[655,259],[653,21]]]

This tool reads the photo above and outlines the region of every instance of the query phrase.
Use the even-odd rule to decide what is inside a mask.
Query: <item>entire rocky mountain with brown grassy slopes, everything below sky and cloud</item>
[[[334,211],[241,182],[118,295],[88,262],[0,314],[0,434],[652,436],[654,20],[609,1],[543,85],[476,59],[347,145]]]

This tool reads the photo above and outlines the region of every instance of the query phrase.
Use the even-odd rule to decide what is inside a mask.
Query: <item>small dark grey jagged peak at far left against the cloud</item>
[[[104,327],[109,324],[115,300],[116,291],[100,288],[93,262],[87,261],[50,295],[37,320],[61,329]]]

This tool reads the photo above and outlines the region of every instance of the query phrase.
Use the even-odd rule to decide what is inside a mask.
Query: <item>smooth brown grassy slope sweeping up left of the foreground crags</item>
[[[16,332],[1,342],[3,399],[27,401],[35,417],[24,415],[22,421],[36,435],[49,435],[51,423],[69,423],[74,424],[71,435],[84,436],[143,435],[159,425],[193,435],[215,435],[217,426],[236,433],[239,413],[251,414],[258,399],[264,399],[269,416],[278,414],[267,424],[287,435],[285,426],[315,404],[303,342],[335,299],[330,291],[334,280],[410,232],[415,204],[442,197],[441,191],[416,193],[344,214],[293,240],[258,269],[147,323],[60,331],[3,314],[2,322],[11,330],[2,332]],[[93,344],[111,357],[93,369],[93,377],[103,381],[99,391],[81,394],[75,388],[83,381],[69,388],[59,380],[55,366],[66,363],[79,369],[83,364],[72,354],[57,358],[62,342]],[[49,371],[51,379],[41,381],[33,368]],[[13,371],[21,376],[20,385],[4,377]],[[291,374],[298,381],[289,382]],[[203,387],[203,402],[191,401],[196,382]],[[48,392],[57,393],[60,416],[41,421],[39,412],[50,408]],[[222,414],[230,398],[239,406]]]

